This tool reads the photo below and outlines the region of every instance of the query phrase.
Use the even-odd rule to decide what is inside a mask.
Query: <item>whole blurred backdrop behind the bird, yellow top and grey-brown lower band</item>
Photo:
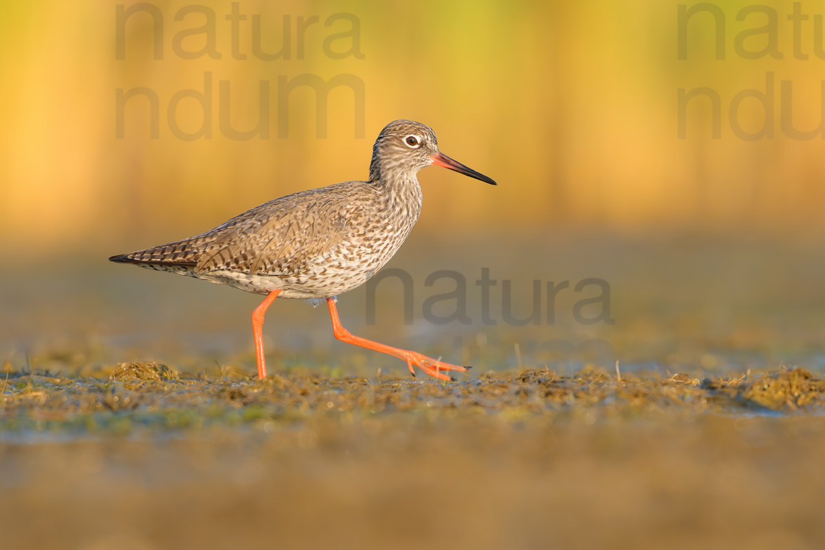
[[[134,2],[4,4],[2,358],[50,369],[138,359],[251,368],[248,316],[257,297],[106,257],[200,233],[276,196],[363,178],[380,129],[409,118],[431,125],[445,153],[500,185],[424,170],[422,218],[389,265],[413,275],[413,325],[400,313],[400,284],[386,282],[375,324],[367,323],[364,289],[342,297],[352,331],[488,368],[581,363],[587,357],[541,346],[589,339],[615,350],[600,360],[629,367],[821,367],[823,134],[792,139],[782,120],[806,131],[823,125],[825,60],[814,40],[822,7],[801,2],[808,20],[794,37],[794,2],[764,4],[775,11],[774,41],[747,35],[770,25],[770,12],[738,21],[747,2],[715,2],[724,40],[713,13],[695,13],[680,59],[680,5],[245,1],[233,33],[232,2],[158,0],[157,19],[127,12],[122,27],[117,14]],[[214,32],[204,12],[214,13]],[[262,49],[284,55],[252,53],[256,25]],[[797,39],[807,60],[794,55]],[[771,48],[781,59],[742,55]],[[181,49],[215,55],[185,59]],[[296,87],[281,106],[283,82],[307,74],[351,76],[328,94],[325,111],[311,87]],[[789,102],[783,81],[792,86]],[[229,87],[225,104],[220,82]],[[243,131],[261,120],[261,82],[269,86],[267,139],[229,139],[222,116]],[[180,139],[168,119],[173,97],[207,86],[206,117],[188,97],[173,124],[210,137]],[[703,87],[719,96],[719,137],[701,96],[688,104],[680,137],[679,91]],[[135,88],[157,96],[158,112],[146,97],[130,98],[119,137],[118,91]],[[732,123],[732,102],[745,90],[766,94],[771,112],[746,97]],[[748,140],[733,125],[773,130]],[[474,284],[483,268],[512,281],[520,317],[530,312],[534,280],[571,288],[606,280],[615,323],[577,322],[580,295],[568,290],[553,324],[543,291],[542,322],[513,327],[500,321],[500,283],[491,302],[499,322],[483,325]],[[449,280],[424,284],[442,269],[466,278],[470,325],[423,318],[424,300],[452,289]],[[277,303],[265,331],[273,366],[403,367],[333,341],[326,313],[304,303]]]

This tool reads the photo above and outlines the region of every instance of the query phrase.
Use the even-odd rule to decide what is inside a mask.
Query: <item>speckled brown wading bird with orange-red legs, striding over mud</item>
[[[252,312],[258,378],[266,377],[262,325],[276,298],[327,299],[338,340],[394,355],[427,374],[469,367],[353,336],[341,326],[336,296],[364,284],[394,256],[421,214],[417,172],[450,168],[493,186],[495,181],[438,150],[436,134],[413,120],[386,125],[372,148],[370,179],[344,181],[270,200],[182,241],[111,256],[110,261],[229,284],[266,294]]]

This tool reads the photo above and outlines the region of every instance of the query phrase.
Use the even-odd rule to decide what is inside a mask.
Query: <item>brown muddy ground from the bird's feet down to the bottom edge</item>
[[[825,378],[7,369],[3,548],[822,548]]]

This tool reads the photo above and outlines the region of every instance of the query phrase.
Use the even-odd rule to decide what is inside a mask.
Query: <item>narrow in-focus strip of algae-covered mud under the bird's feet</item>
[[[425,414],[433,419],[498,416],[507,421],[630,420],[668,413],[822,411],[825,378],[804,369],[699,378],[677,373],[613,374],[585,368],[572,376],[549,369],[488,371],[455,383],[384,376],[324,378],[274,374],[194,377],[153,362],[122,363],[108,378],[7,371],[0,430],[199,430],[262,421],[332,422]]]

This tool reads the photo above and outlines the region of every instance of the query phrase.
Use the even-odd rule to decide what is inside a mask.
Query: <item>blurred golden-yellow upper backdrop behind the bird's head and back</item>
[[[820,124],[825,60],[815,54],[813,32],[814,16],[825,12],[819,4],[802,2],[808,20],[799,40],[808,59],[800,60],[794,59],[788,19],[794,2],[764,4],[775,10],[783,59],[743,59],[736,51],[742,31],[770,19],[752,13],[738,21],[747,2],[714,4],[725,17],[724,59],[715,58],[710,12],[691,16],[686,59],[679,59],[680,2],[661,0],[238,2],[246,18],[238,20],[234,36],[227,19],[232,2],[158,1],[151,5],[163,20],[163,52],[153,59],[158,21],[148,11],[126,16],[125,31],[118,30],[118,10],[134,3],[2,8],[3,249],[35,257],[119,253],[200,233],[276,196],[364,178],[375,136],[398,118],[431,125],[445,153],[500,183],[493,189],[447,171],[422,172],[425,209],[418,232],[444,231],[449,219],[453,234],[564,224],[634,233],[756,229],[822,236],[823,140],[783,133],[788,109],[780,93],[782,81],[792,82],[795,128]],[[200,12],[176,17],[187,6]],[[210,11],[214,33],[184,36],[203,26],[203,12]],[[349,15],[330,20],[338,13]],[[318,22],[302,33],[299,18],[313,16]],[[267,52],[281,49],[286,24],[290,59],[252,54],[256,18]],[[119,32],[125,59],[117,59]],[[769,34],[742,36],[742,47],[760,51]],[[175,40],[197,52],[207,35],[220,59],[176,54]],[[297,59],[301,36],[304,59]],[[246,59],[233,59],[233,40]],[[333,59],[340,55],[330,51],[347,56]],[[204,92],[207,73],[211,138],[178,139],[167,120],[172,96]],[[731,101],[743,90],[766,92],[768,73],[774,136],[740,139],[729,120]],[[334,88],[327,137],[319,139],[314,92],[298,87],[288,95],[284,121],[279,78],[291,82],[303,74],[324,81],[353,75],[350,82],[363,85],[363,115],[357,91]],[[268,82],[268,139],[222,133],[226,106],[219,105],[219,81],[229,84],[229,117],[238,130],[257,124],[259,83]],[[138,87],[158,96],[158,138],[150,139],[148,100],[134,96],[125,102],[118,139],[117,90]],[[719,139],[712,137],[704,97],[688,104],[686,137],[677,135],[678,91],[699,87],[719,94]],[[176,116],[186,132],[203,120],[191,98],[180,102]],[[742,101],[744,131],[757,132],[764,120],[756,99]],[[363,137],[356,137],[359,125]],[[282,126],[288,138],[279,136]]]

